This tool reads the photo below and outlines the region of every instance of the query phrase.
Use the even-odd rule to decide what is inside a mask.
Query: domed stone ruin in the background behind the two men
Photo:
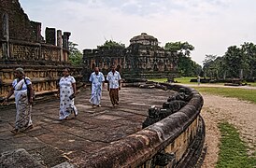
[[[84,49],[85,80],[95,66],[107,74],[115,64],[124,78],[169,77],[177,74],[178,55],[158,46],[158,39],[142,33],[130,40],[126,49]]]

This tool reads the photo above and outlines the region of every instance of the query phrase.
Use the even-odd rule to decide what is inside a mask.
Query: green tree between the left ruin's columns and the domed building
[[[69,42],[69,60],[74,66],[80,66],[82,64],[82,52],[77,49],[78,44]]]

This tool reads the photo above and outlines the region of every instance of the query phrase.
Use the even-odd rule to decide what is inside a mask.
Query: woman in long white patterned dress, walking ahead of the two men
[[[76,79],[69,75],[70,69],[65,68],[64,77],[60,79],[58,95],[60,96],[60,119],[67,119],[70,114],[78,116],[78,109],[75,106],[74,98],[76,97],[77,87]]]

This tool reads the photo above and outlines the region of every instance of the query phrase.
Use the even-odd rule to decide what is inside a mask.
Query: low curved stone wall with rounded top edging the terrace
[[[193,167],[203,151],[205,124],[200,117],[204,104],[198,91],[163,83],[168,90],[185,88],[192,99],[178,112],[140,132],[103,147],[90,158],[76,158],[77,167]]]

